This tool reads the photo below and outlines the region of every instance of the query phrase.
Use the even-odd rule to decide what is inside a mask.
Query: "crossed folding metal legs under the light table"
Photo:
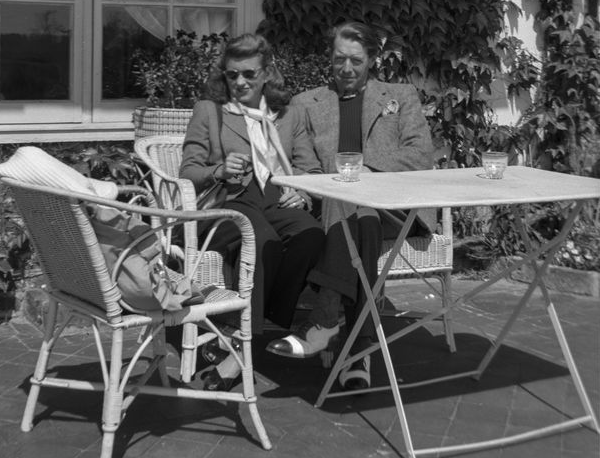
[[[439,316],[439,314],[443,313],[443,311],[429,314],[427,317],[425,317],[419,323],[414,323],[414,324],[410,325],[408,328],[405,328],[399,332],[396,332],[395,334],[386,338],[386,336],[383,332],[383,328],[381,326],[381,321],[380,321],[379,315],[377,313],[377,306],[375,304],[374,297],[379,293],[383,283],[385,282],[385,277],[387,275],[387,272],[389,271],[391,262],[394,259],[394,257],[398,254],[400,247],[402,246],[402,243],[404,242],[404,240],[406,238],[406,231],[403,230],[399,234],[398,239],[396,240],[396,243],[394,244],[392,253],[389,256],[389,258],[386,262],[386,265],[382,269],[380,276],[377,278],[377,282],[375,283],[375,285],[373,286],[373,289],[371,290],[368,280],[366,278],[366,274],[364,272],[364,268],[362,266],[362,262],[360,260],[360,257],[358,256],[356,245],[354,244],[354,240],[352,239],[352,236],[350,234],[350,231],[349,231],[346,221],[342,221],[344,235],[346,237],[348,249],[350,250],[350,255],[352,258],[353,266],[357,269],[357,271],[359,273],[361,284],[365,288],[367,301],[356,321],[354,328],[351,330],[350,335],[348,336],[348,339],[346,340],[346,343],[344,344],[344,347],[342,348],[342,352],[340,353],[338,359],[336,360],[334,367],[332,368],[332,370],[329,374],[329,377],[328,377],[323,389],[321,390],[321,393],[320,393],[319,398],[315,405],[317,407],[321,406],[322,403],[324,402],[325,398],[327,398],[329,396],[348,394],[348,393],[329,394],[329,391],[331,390],[333,382],[337,378],[339,371],[344,366],[346,366],[348,364],[352,364],[354,361],[362,358],[366,354],[370,354],[370,353],[378,350],[379,348],[381,348],[382,356],[383,356],[383,359],[384,359],[384,362],[386,365],[386,370],[387,370],[389,381],[390,381],[390,387],[384,387],[383,389],[386,389],[386,390],[391,389],[392,390],[392,393],[394,396],[394,402],[396,404],[398,419],[400,420],[400,425],[401,425],[401,429],[402,429],[402,435],[404,438],[405,447],[408,452],[408,456],[410,458],[415,458],[417,456],[430,455],[430,454],[442,455],[442,454],[456,453],[456,452],[461,452],[461,451],[469,452],[469,451],[476,451],[476,450],[484,450],[484,449],[488,449],[488,448],[492,448],[492,447],[499,447],[499,446],[503,446],[503,445],[522,442],[522,441],[529,440],[529,439],[534,439],[534,438],[541,437],[541,436],[546,436],[549,434],[553,434],[553,433],[556,433],[559,431],[565,431],[565,430],[575,428],[575,427],[581,426],[583,424],[588,424],[588,423],[592,425],[592,427],[594,428],[594,430],[597,433],[600,433],[600,428],[598,426],[598,420],[595,416],[594,410],[592,408],[590,400],[585,391],[585,387],[583,386],[583,384],[581,382],[581,377],[579,376],[579,373],[577,371],[574,359],[572,357],[571,351],[569,349],[569,346],[568,346],[568,343],[566,340],[566,337],[562,330],[558,315],[556,313],[554,305],[552,304],[552,302],[550,300],[550,295],[549,295],[547,287],[543,281],[543,275],[545,274],[545,272],[548,268],[548,265],[550,263],[550,260],[552,259],[552,256],[554,255],[554,253],[556,253],[556,251],[560,247],[561,243],[564,242],[564,240],[567,237],[569,231],[571,230],[571,228],[574,224],[575,218],[579,214],[582,206],[583,206],[582,202],[577,203],[575,208],[572,210],[571,214],[565,221],[561,232],[553,240],[545,243],[542,247],[538,248],[537,250],[534,250],[532,248],[531,242],[528,239],[526,231],[523,227],[523,224],[521,221],[521,215],[519,214],[517,207],[512,206],[512,211],[515,214],[515,221],[517,224],[517,228],[519,229],[519,232],[520,232],[521,236],[523,237],[523,241],[524,241],[524,244],[526,247],[525,256],[523,256],[523,258],[521,260],[515,262],[512,266],[507,267],[503,272],[493,276],[491,279],[486,281],[484,284],[478,286],[477,288],[474,288],[472,291],[465,294],[462,298],[457,299],[455,302],[464,301],[464,300],[467,300],[468,298],[475,296],[479,292],[485,290],[490,285],[497,282],[501,278],[504,278],[510,272],[512,272],[513,270],[517,269],[518,267],[520,267],[521,265],[523,265],[525,263],[531,263],[531,265],[534,268],[535,277],[534,277],[533,281],[531,282],[530,286],[527,288],[527,291],[525,292],[525,294],[523,295],[523,297],[521,298],[521,300],[515,307],[515,310],[511,313],[511,316],[509,317],[507,322],[502,327],[502,329],[501,329],[500,333],[498,334],[498,336],[496,337],[496,339],[492,342],[491,348],[488,350],[488,352],[486,353],[486,355],[480,362],[477,370],[464,372],[461,374],[454,374],[454,375],[446,376],[446,377],[439,377],[439,378],[431,379],[431,380],[427,380],[427,381],[407,384],[407,385],[403,385],[403,388],[409,388],[409,387],[413,387],[413,386],[414,387],[423,386],[423,385],[431,384],[431,383],[439,383],[442,381],[451,380],[451,379],[460,378],[460,377],[471,376],[471,377],[479,378],[481,376],[481,374],[484,372],[484,370],[487,368],[489,363],[492,361],[496,352],[498,351],[498,349],[502,345],[504,339],[506,338],[506,335],[508,334],[508,332],[510,331],[510,329],[516,322],[520,313],[523,311],[523,309],[527,305],[529,299],[531,298],[531,295],[533,294],[533,291],[535,290],[536,287],[539,286],[542,291],[544,300],[546,302],[546,310],[547,310],[550,320],[552,322],[554,332],[558,338],[559,345],[560,345],[561,351],[563,353],[563,357],[566,360],[569,372],[575,383],[575,387],[579,394],[581,403],[585,409],[585,412],[586,412],[585,416],[582,416],[579,418],[573,418],[573,419],[570,419],[570,420],[567,420],[564,422],[560,422],[560,423],[556,423],[556,424],[553,424],[550,426],[538,428],[538,429],[535,429],[533,431],[529,431],[526,433],[516,434],[516,435],[508,436],[508,437],[502,437],[499,439],[493,439],[493,440],[481,441],[481,442],[472,442],[472,443],[468,443],[468,444],[449,446],[449,447],[435,447],[435,448],[429,448],[429,449],[415,450],[413,447],[413,444],[412,444],[410,430],[408,427],[408,421],[406,418],[406,414],[404,412],[402,398],[400,396],[399,385],[398,385],[398,382],[396,379],[396,375],[394,372],[394,367],[392,364],[391,355],[389,353],[387,343],[390,343],[390,342],[396,340],[397,338],[411,332],[412,330],[422,326],[427,321],[435,318],[436,316]],[[409,222],[412,222],[414,220],[415,215],[416,215],[416,210],[411,210],[411,212],[409,214]],[[412,217],[412,219],[411,219],[411,217]],[[408,225],[409,224],[407,224],[407,226],[406,226],[407,228],[408,228]],[[536,264],[536,260],[539,259],[539,257],[542,254],[546,254],[546,260],[542,263],[542,265],[540,267],[538,267]],[[370,347],[369,349],[364,350],[364,351],[362,351],[356,355],[353,355],[351,357],[348,357],[352,343],[356,339],[358,332],[369,313],[371,313],[372,318],[375,323],[378,341],[376,343],[374,343],[373,346]],[[376,391],[376,390],[381,391],[382,389],[381,388],[379,388],[379,389],[371,388],[369,390],[355,391],[354,393]]]

